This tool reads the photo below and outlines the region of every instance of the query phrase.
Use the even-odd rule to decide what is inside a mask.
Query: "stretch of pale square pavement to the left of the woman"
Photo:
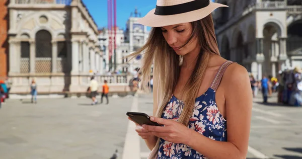
[[[122,154],[132,98],[8,100],[0,109],[1,159],[94,159]]]

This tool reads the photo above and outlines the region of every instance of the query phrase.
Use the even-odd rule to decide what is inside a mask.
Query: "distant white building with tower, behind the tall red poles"
[[[114,54],[112,54],[113,64],[114,59],[116,59],[116,71],[133,71],[134,68],[140,66],[141,56],[138,56],[132,61],[130,61],[128,58],[124,58],[126,55],[129,55],[133,51],[136,51],[137,49],[142,47],[149,35],[147,27],[136,22],[138,19],[137,15],[137,10],[135,10],[134,16],[129,17],[125,30],[119,28],[116,29],[116,58],[114,58]],[[110,65],[109,60],[108,33],[108,29],[103,29],[99,34],[99,44],[104,52],[104,69],[102,70],[103,73],[106,73],[107,71],[114,71],[114,66]]]

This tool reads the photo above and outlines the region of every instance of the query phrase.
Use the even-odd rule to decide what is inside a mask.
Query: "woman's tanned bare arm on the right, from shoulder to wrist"
[[[192,130],[188,145],[208,158],[246,158],[251,114],[252,90],[247,70],[232,64],[223,75],[228,120],[228,141],[215,141]]]

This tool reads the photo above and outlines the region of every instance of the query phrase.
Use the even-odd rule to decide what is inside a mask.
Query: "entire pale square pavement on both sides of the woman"
[[[109,159],[116,149],[118,158],[146,158],[149,150],[125,113],[152,114],[152,96],[109,100],[95,106],[86,98],[8,100],[0,109],[0,158]],[[260,101],[253,106],[247,158],[302,158],[302,108]]]

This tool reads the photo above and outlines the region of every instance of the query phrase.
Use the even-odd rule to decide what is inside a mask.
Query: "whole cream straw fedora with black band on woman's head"
[[[218,7],[228,6],[209,0],[157,0],[156,8],[137,22],[149,27],[194,22],[208,16]]]

